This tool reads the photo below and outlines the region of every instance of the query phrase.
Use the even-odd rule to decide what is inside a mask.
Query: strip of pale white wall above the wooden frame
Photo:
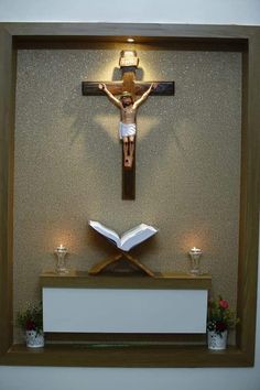
[[[0,0],[0,21],[259,24],[259,0]]]

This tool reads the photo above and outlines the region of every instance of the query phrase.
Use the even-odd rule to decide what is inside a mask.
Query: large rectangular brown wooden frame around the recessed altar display
[[[126,42],[149,46],[240,51],[243,58],[241,202],[237,345],[212,353],[196,345],[87,348],[48,345],[29,351],[12,342],[12,224],[15,51],[93,47]],[[0,364],[91,367],[236,367],[254,358],[259,223],[260,28],[171,24],[0,24]]]

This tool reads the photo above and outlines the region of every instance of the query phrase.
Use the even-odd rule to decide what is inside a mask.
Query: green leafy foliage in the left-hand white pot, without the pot
[[[43,307],[42,302],[37,304],[28,303],[17,314],[17,325],[23,331],[35,331],[43,333]]]

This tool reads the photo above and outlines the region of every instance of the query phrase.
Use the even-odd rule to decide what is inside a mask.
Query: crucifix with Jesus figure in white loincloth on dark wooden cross
[[[121,51],[121,82],[83,82],[83,95],[107,95],[120,109],[119,137],[122,140],[122,199],[136,198],[136,119],[138,107],[149,95],[174,95],[174,82],[137,82],[139,58],[136,51]],[[117,95],[120,97],[117,98]]]

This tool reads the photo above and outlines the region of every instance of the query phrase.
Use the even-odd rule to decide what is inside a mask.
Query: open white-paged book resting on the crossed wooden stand
[[[140,224],[133,229],[126,231],[121,237],[119,237],[119,235],[115,230],[109,229],[108,227],[96,220],[89,220],[89,225],[95,230],[100,232],[100,235],[111,240],[119,249],[124,250],[127,252],[140,242],[145,241],[148,238],[155,235],[155,232],[158,232],[158,229],[155,229],[154,227],[145,224]]]

